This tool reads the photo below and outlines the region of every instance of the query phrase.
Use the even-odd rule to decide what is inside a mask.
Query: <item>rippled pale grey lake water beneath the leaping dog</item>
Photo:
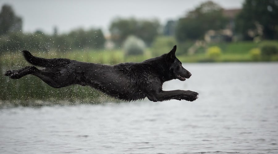
[[[278,63],[183,66],[194,102],[1,109],[0,153],[278,153]]]

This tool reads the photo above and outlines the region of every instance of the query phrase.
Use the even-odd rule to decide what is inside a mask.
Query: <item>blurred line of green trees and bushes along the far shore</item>
[[[217,3],[208,1],[177,21],[169,20],[166,25],[156,19],[116,18],[110,24],[109,36],[104,36],[101,29],[95,28],[76,29],[65,34],[59,34],[57,28],[54,28],[53,34],[40,30],[25,33],[22,31],[22,18],[14,13],[11,6],[4,5],[0,13],[0,52],[112,49],[123,47],[128,37],[133,35],[144,42],[143,47],[151,49],[152,55],[159,55],[161,49],[168,51],[174,44],[179,44],[183,49],[181,52],[187,53],[197,40],[206,44],[277,40],[277,19],[276,0],[246,0],[242,9],[232,10],[225,10]]]

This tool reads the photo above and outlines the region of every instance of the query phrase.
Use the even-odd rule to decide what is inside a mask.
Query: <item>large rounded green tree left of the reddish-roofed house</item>
[[[203,39],[207,30],[223,29],[227,25],[223,9],[218,4],[208,1],[201,3],[195,10],[180,18],[176,27],[176,38],[179,42],[187,39]]]

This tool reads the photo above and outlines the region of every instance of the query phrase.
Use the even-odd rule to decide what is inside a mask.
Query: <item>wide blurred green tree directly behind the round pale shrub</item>
[[[158,20],[136,20],[135,18],[117,18],[110,25],[111,39],[117,45],[122,45],[129,35],[135,35],[150,45],[158,35]]]

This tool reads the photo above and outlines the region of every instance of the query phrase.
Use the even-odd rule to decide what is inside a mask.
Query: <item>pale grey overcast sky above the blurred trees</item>
[[[82,27],[108,32],[116,17],[157,18],[162,24],[178,19],[206,0],[0,0],[23,18],[23,31],[42,30],[52,34]],[[241,8],[244,0],[213,0],[225,9]]]

